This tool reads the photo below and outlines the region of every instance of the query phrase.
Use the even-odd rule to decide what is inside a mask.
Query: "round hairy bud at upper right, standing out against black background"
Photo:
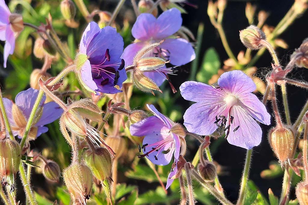
[[[266,40],[266,36],[257,26],[252,25],[240,31],[240,39],[247,48],[258,50],[263,47],[261,41]]]

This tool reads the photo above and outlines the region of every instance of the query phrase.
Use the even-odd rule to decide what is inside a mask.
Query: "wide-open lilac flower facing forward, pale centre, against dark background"
[[[197,102],[184,114],[188,132],[210,135],[225,130],[230,144],[251,149],[261,142],[259,121],[270,124],[270,114],[253,92],[256,85],[239,70],[223,73],[213,88],[187,81],[180,86],[184,99]]]

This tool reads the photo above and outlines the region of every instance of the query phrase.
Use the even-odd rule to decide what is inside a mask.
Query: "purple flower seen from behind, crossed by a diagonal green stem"
[[[33,88],[22,91],[17,94],[15,98],[15,104],[13,101],[7,98],[3,98],[6,113],[9,118],[14,136],[23,136],[26,123],[28,122],[38,93],[39,91]],[[29,138],[32,140],[47,132],[48,128],[44,127],[44,125],[57,120],[63,112],[63,109],[60,108],[58,104],[55,102],[49,102],[45,104],[45,100],[46,97],[43,96],[37,111],[38,118],[35,119],[29,132]],[[16,116],[17,114],[18,116]]]

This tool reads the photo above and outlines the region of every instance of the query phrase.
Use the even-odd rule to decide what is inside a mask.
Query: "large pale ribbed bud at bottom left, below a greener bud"
[[[90,198],[93,175],[86,165],[72,164],[63,171],[63,179],[73,201]]]

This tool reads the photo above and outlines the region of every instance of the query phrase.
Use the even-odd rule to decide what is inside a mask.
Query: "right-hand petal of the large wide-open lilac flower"
[[[265,105],[253,93],[247,93],[239,96],[241,106],[259,122],[270,125],[270,114],[267,112]]]

